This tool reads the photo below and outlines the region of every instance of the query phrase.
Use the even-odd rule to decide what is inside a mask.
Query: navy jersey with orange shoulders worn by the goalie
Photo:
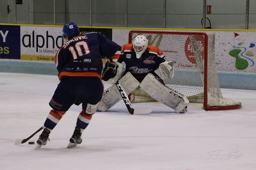
[[[126,63],[126,72],[131,72],[139,82],[141,82],[148,73],[153,73],[159,67],[160,63],[166,61],[162,50],[148,45],[148,49],[142,54],[141,58],[136,58],[132,43],[122,46],[119,63]]]

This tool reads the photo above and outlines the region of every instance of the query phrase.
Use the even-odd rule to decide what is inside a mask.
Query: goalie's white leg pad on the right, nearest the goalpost
[[[162,84],[151,73],[146,75],[140,86],[152,98],[175,109],[175,112],[186,111],[185,107],[189,104],[187,97]]]

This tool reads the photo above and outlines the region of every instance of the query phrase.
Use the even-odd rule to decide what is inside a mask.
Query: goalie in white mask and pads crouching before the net
[[[123,45],[118,61],[117,74],[108,81],[114,85],[105,90],[98,105],[99,111],[107,111],[122,100],[115,86],[115,82],[120,79],[126,94],[139,89],[149,97],[175,109],[175,112],[187,112],[187,97],[168,88],[163,81],[168,77],[173,78],[174,62],[166,61],[162,50],[148,45],[145,36],[138,35],[133,43]]]

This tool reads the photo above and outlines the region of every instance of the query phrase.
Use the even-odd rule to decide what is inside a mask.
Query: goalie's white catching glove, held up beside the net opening
[[[175,75],[175,61],[164,61],[164,63],[161,63],[157,70],[155,70],[155,73],[162,79],[167,79],[170,77],[173,79],[173,76]]]

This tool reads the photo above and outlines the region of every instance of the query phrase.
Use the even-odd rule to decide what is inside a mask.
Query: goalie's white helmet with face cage
[[[133,39],[132,43],[136,58],[141,58],[143,52],[148,48],[148,39],[144,35],[138,35]]]

